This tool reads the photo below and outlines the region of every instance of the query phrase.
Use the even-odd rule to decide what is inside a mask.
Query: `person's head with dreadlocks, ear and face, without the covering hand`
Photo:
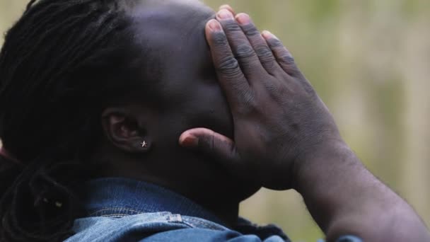
[[[178,145],[192,127],[233,137],[204,38],[214,11],[180,0],[34,2],[0,54],[0,137],[28,174],[17,174],[20,184],[64,178],[59,164],[74,161],[92,176],[146,180],[207,207],[258,189]],[[40,187],[10,193],[52,192]]]

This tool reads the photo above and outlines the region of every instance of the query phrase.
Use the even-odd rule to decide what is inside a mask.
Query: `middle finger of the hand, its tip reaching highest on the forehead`
[[[216,14],[216,18],[226,33],[228,43],[231,46],[234,57],[236,57],[240,64],[243,74],[248,77],[248,82],[252,82],[252,79],[249,78],[252,73],[265,71],[254,48],[250,45],[248,38],[243,33],[238,22],[236,22],[231,11],[221,9]]]

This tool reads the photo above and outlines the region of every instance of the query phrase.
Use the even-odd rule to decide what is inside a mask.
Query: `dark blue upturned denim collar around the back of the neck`
[[[171,212],[223,224],[199,204],[158,185],[127,178],[98,178],[86,183],[83,206],[90,216]]]

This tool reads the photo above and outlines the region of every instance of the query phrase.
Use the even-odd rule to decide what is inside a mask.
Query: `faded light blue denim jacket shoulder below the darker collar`
[[[262,241],[256,235],[243,235],[211,221],[181,217],[170,212],[77,219],[74,232],[74,236],[66,242]],[[284,240],[279,236],[271,236],[264,241]]]

